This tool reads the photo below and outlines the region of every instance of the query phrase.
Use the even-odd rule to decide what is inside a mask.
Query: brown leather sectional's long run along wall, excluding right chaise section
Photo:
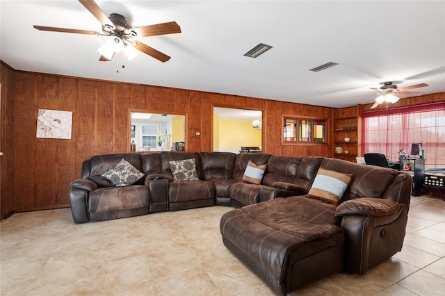
[[[102,174],[122,159],[145,176],[131,186],[116,187]],[[173,181],[169,162],[184,159],[195,160],[199,181]],[[70,183],[72,215],[75,223],[82,223],[202,206],[239,208],[275,197],[304,195],[322,159],[181,151],[92,156],[83,162],[81,178]],[[243,181],[249,161],[268,165],[260,185]]]

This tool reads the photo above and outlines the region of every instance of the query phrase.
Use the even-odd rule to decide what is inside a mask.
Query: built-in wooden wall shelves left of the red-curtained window
[[[356,157],[362,156],[362,113],[362,105],[334,110],[334,158],[355,163]],[[345,138],[350,138],[349,142]],[[337,153],[338,146],[342,153]]]

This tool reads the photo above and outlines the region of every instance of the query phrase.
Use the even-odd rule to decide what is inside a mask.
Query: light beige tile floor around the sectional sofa
[[[224,206],[73,224],[70,208],[0,222],[0,295],[273,295],[225,248]],[[445,295],[445,202],[413,197],[402,252],[291,295]]]

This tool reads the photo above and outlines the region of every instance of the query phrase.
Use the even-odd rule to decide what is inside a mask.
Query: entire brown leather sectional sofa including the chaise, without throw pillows
[[[116,187],[102,174],[122,159],[145,175]],[[169,162],[184,159],[195,160],[199,181],[173,181]],[[243,181],[249,161],[267,165],[259,185]],[[349,174],[338,204],[307,195],[320,168]],[[399,252],[412,179],[332,158],[162,151],[93,156],[70,186],[75,223],[234,206],[220,221],[225,246],[285,295],[340,270],[364,274]]]

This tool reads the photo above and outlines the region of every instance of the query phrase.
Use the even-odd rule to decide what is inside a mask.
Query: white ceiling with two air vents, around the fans
[[[102,31],[78,1],[0,0],[1,60],[17,70],[330,107],[372,103],[369,88],[384,81],[445,91],[445,1],[96,3],[135,27],[176,21],[182,33],[140,38],[172,58],[99,62],[105,37],[33,28]],[[273,49],[243,56],[260,42]],[[330,61],[339,65],[309,71]]]

